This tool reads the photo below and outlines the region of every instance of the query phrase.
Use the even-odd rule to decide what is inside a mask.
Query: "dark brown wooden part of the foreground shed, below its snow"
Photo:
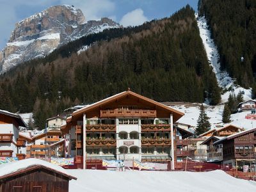
[[[71,179],[76,177],[68,175],[65,170],[61,172],[60,169],[56,170],[52,166],[33,164],[0,176],[0,192],[68,192],[68,182]]]

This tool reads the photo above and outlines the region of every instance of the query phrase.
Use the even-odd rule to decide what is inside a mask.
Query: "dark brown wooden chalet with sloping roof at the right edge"
[[[255,164],[256,128],[226,136],[213,144],[222,145],[223,164],[232,166]]]

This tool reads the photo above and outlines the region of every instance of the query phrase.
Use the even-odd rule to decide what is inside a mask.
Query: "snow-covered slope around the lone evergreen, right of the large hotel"
[[[200,113],[200,104],[184,104],[184,105],[173,105],[171,106],[174,109],[182,111],[185,113],[182,118],[178,120],[179,123],[188,124],[196,127],[198,116]],[[209,116],[209,122],[211,123],[211,128],[216,128],[216,125],[227,125],[222,123],[222,113],[224,105],[219,106],[207,106],[205,105],[205,112]],[[244,129],[252,129],[256,127],[256,120],[248,120],[245,118],[250,111],[244,111],[241,113],[235,113],[231,115],[230,124],[236,125]]]

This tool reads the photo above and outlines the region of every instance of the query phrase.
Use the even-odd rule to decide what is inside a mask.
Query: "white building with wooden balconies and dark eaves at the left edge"
[[[19,127],[27,127],[19,115],[0,110],[0,157],[26,156],[20,149],[25,143],[19,138]]]

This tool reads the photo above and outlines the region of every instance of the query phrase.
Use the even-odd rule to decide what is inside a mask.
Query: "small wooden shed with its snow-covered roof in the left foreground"
[[[24,159],[0,167],[0,191],[68,192],[68,175],[63,168],[40,159]]]

